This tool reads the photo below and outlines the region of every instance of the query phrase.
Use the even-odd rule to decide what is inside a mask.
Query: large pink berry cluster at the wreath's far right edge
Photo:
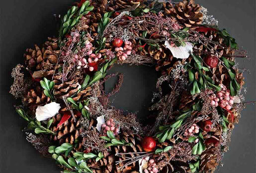
[[[220,85],[221,91],[217,92],[216,94],[211,94],[210,99],[212,106],[220,106],[227,110],[230,110],[232,105],[234,104],[234,97],[230,96],[230,91],[227,90],[227,87],[223,84]]]

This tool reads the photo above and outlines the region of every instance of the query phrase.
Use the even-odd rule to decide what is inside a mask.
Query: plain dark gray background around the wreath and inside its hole
[[[26,48],[42,44],[48,36],[55,35],[53,14],[63,14],[73,0],[8,0],[0,4],[1,38],[1,163],[0,172],[49,172],[59,169],[51,159],[39,155],[25,139],[21,129],[25,122],[13,109],[13,98],[9,94],[12,84],[12,68],[23,62]],[[255,96],[255,1],[215,0],[196,1],[208,8],[219,20],[219,27],[226,28],[239,45],[249,52],[251,60],[238,59],[241,69],[247,68],[251,74],[246,78],[247,101]],[[124,73],[124,84],[113,105],[130,111],[139,111],[143,116],[155,87],[156,74],[152,67],[116,67],[112,72]],[[106,84],[110,90],[113,80]],[[240,123],[235,126],[230,151],[223,159],[224,166],[218,172],[255,172],[255,106],[248,105],[242,113]]]

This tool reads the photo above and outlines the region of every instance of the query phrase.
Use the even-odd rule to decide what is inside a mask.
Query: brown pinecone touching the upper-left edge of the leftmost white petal
[[[36,86],[35,89],[30,89],[23,98],[23,102],[28,105],[32,113],[35,113],[37,106],[45,105],[50,103],[50,98],[46,97],[44,91],[41,90],[40,86]]]

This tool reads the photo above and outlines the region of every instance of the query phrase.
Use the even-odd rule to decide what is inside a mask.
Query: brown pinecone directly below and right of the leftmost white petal
[[[75,140],[79,137],[83,128],[80,125],[80,121],[78,120],[77,114],[75,114],[76,122],[73,117],[70,117],[65,123],[59,126],[60,120],[63,114],[55,115],[53,119],[53,123],[50,127],[50,130],[55,132],[57,135],[52,135],[51,140],[61,145],[62,143],[70,143],[74,144]],[[82,143],[77,146],[77,150],[82,148]]]

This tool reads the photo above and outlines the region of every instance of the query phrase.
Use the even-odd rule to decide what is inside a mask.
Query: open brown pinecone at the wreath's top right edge
[[[173,16],[184,23],[186,27],[193,27],[202,23],[203,14],[200,10],[201,7],[195,4],[194,0],[180,2],[171,8]]]

